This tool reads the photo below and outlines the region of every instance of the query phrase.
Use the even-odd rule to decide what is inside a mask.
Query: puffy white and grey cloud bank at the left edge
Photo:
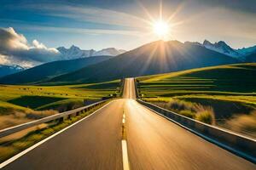
[[[29,44],[14,28],[0,28],[0,64],[31,67],[44,62],[61,59],[55,48],[47,48],[38,40]]]

